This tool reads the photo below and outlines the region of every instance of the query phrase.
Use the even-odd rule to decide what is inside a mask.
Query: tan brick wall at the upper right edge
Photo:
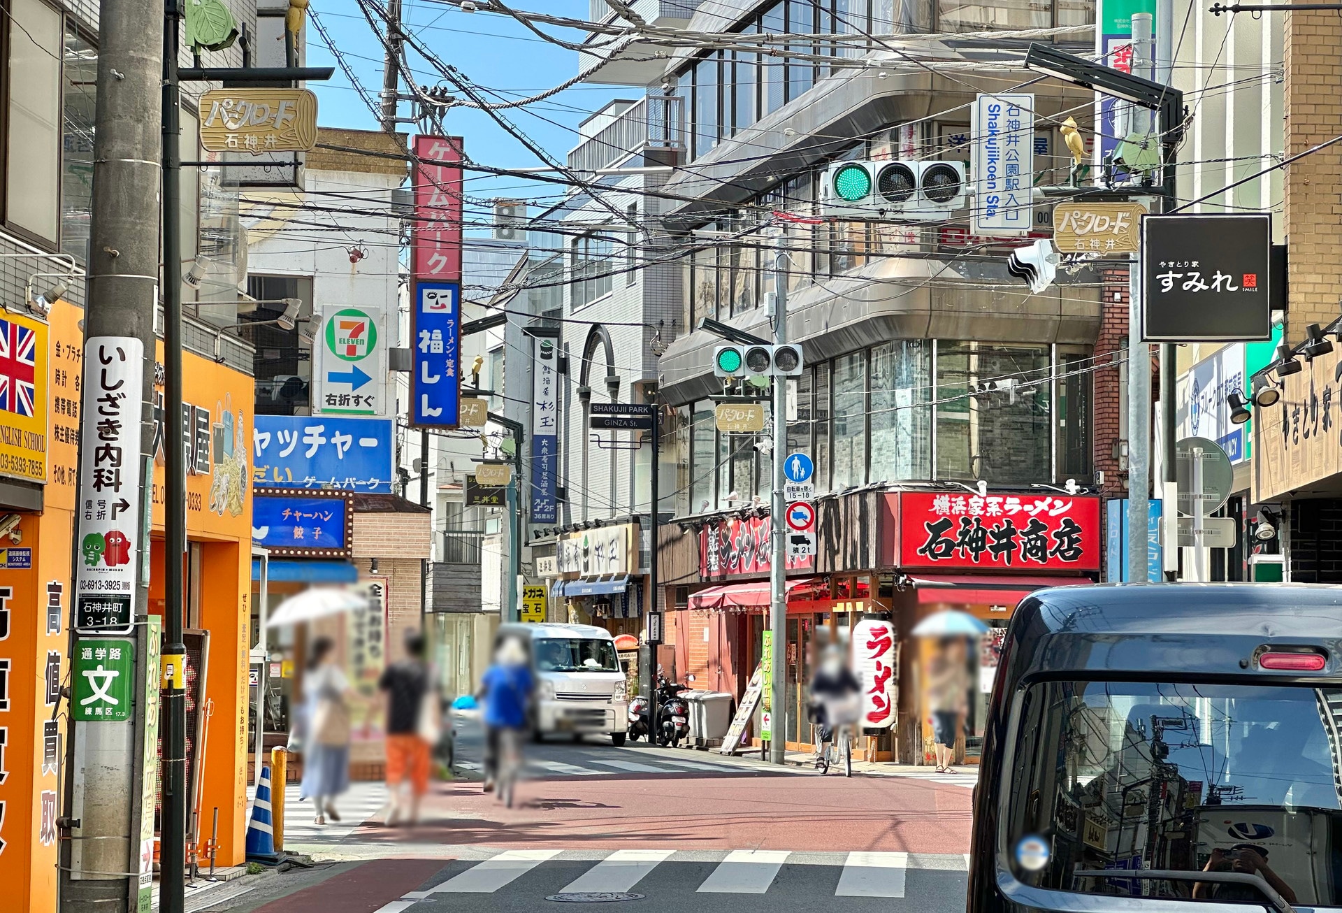
[[[1342,17],[1335,12],[1286,15],[1286,154],[1342,134]],[[1342,289],[1342,146],[1330,146],[1286,169],[1286,236],[1290,310],[1286,336],[1304,338],[1310,324],[1338,316]]]

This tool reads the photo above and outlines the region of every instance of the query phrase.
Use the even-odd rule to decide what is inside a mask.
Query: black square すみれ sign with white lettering
[[[1142,218],[1142,340],[1272,338],[1272,218]]]

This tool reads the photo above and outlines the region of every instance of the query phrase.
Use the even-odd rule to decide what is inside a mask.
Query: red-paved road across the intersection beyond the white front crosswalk
[[[499,847],[966,853],[970,789],[911,777],[611,776],[537,780],[503,808],[435,784],[424,824],[353,839]],[[395,853],[393,846],[388,846]]]

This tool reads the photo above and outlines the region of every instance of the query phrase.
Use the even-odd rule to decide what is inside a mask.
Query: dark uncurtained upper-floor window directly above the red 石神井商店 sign
[[[1044,346],[938,344],[938,478],[1012,485],[1051,475],[1048,361]],[[998,388],[980,391],[985,381]]]

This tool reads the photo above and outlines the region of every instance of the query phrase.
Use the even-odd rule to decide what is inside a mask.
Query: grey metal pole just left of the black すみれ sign
[[[1133,15],[1133,75],[1151,75],[1151,13]],[[1154,114],[1129,106],[1149,126]],[[1129,130],[1129,134],[1138,130]],[[1150,130],[1145,130],[1150,133]],[[1127,267],[1127,579],[1147,580],[1146,540],[1151,494],[1151,346],[1142,341],[1142,260]]]

